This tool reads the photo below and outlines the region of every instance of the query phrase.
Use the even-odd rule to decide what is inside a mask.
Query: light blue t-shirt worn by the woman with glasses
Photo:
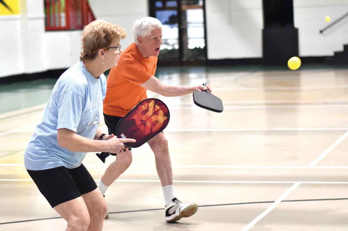
[[[44,170],[65,166],[77,168],[86,152],[72,152],[57,142],[57,129],[67,128],[76,134],[94,139],[98,129],[106,78],[94,78],[82,61],[66,70],[55,84],[42,121],[24,153],[24,165],[29,170]]]

